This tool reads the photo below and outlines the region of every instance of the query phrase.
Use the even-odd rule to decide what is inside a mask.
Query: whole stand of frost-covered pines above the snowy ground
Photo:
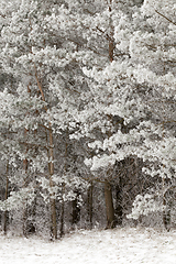
[[[1,0],[4,231],[20,219],[24,235],[47,226],[57,239],[102,212],[107,228],[176,221],[175,12],[174,0]]]

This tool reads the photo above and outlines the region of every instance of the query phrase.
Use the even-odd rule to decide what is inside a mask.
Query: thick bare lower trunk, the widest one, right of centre
[[[108,180],[105,182],[105,197],[106,197],[106,210],[107,210],[107,229],[116,227],[114,208],[112,200],[112,189]]]

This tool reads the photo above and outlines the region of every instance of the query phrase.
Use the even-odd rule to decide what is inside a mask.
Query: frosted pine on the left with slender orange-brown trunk
[[[15,168],[10,180],[16,190],[11,191],[6,205],[9,209],[23,205],[25,211],[36,189],[40,190],[50,200],[54,239],[57,238],[56,199],[74,199],[69,194],[72,186],[87,186],[79,177],[76,180],[74,173],[70,183],[70,172],[67,175],[62,166],[65,155],[56,151],[57,142],[63,139],[58,135],[66,133],[81,89],[80,85],[74,90],[76,85],[72,82],[81,84],[75,76],[77,45],[68,41],[72,23],[63,3],[1,1],[1,66],[13,78],[13,86],[7,81],[1,92],[1,128],[11,133],[10,139],[1,142],[8,150],[10,165]],[[61,164],[55,166],[57,169],[56,160]],[[2,202],[1,208],[6,205]]]

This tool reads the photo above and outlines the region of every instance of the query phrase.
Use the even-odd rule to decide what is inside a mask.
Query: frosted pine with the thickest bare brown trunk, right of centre
[[[73,136],[91,141],[89,147],[95,156],[91,161],[87,160],[87,164],[91,164],[91,170],[99,170],[99,176],[95,178],[105,183],[109,228],[114,226],[116,220],[111,193],[114,164],[132,155],[138,135],[131,135],[130,131],[146,116],[135,84],[131,85],[133,63],[127,46],[133,28],[125,26],[131,24],[132,13],[139,7],[133,1],[125,4],[100,1],[94,8],[95,12],[90,7],[87,15],[80,16],[84,53],[87,51],[87,56],[80,57],[80,62],[88,78],[88,89],[84,95],[82,109],[75,113],[79,131]],[[118,34],[120,37],[117,40]]]

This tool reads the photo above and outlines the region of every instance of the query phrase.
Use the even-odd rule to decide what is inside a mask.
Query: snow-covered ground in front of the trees
[[[57,242],[0,235],[0,264],[176,264],[176,231],[78,231]]]

